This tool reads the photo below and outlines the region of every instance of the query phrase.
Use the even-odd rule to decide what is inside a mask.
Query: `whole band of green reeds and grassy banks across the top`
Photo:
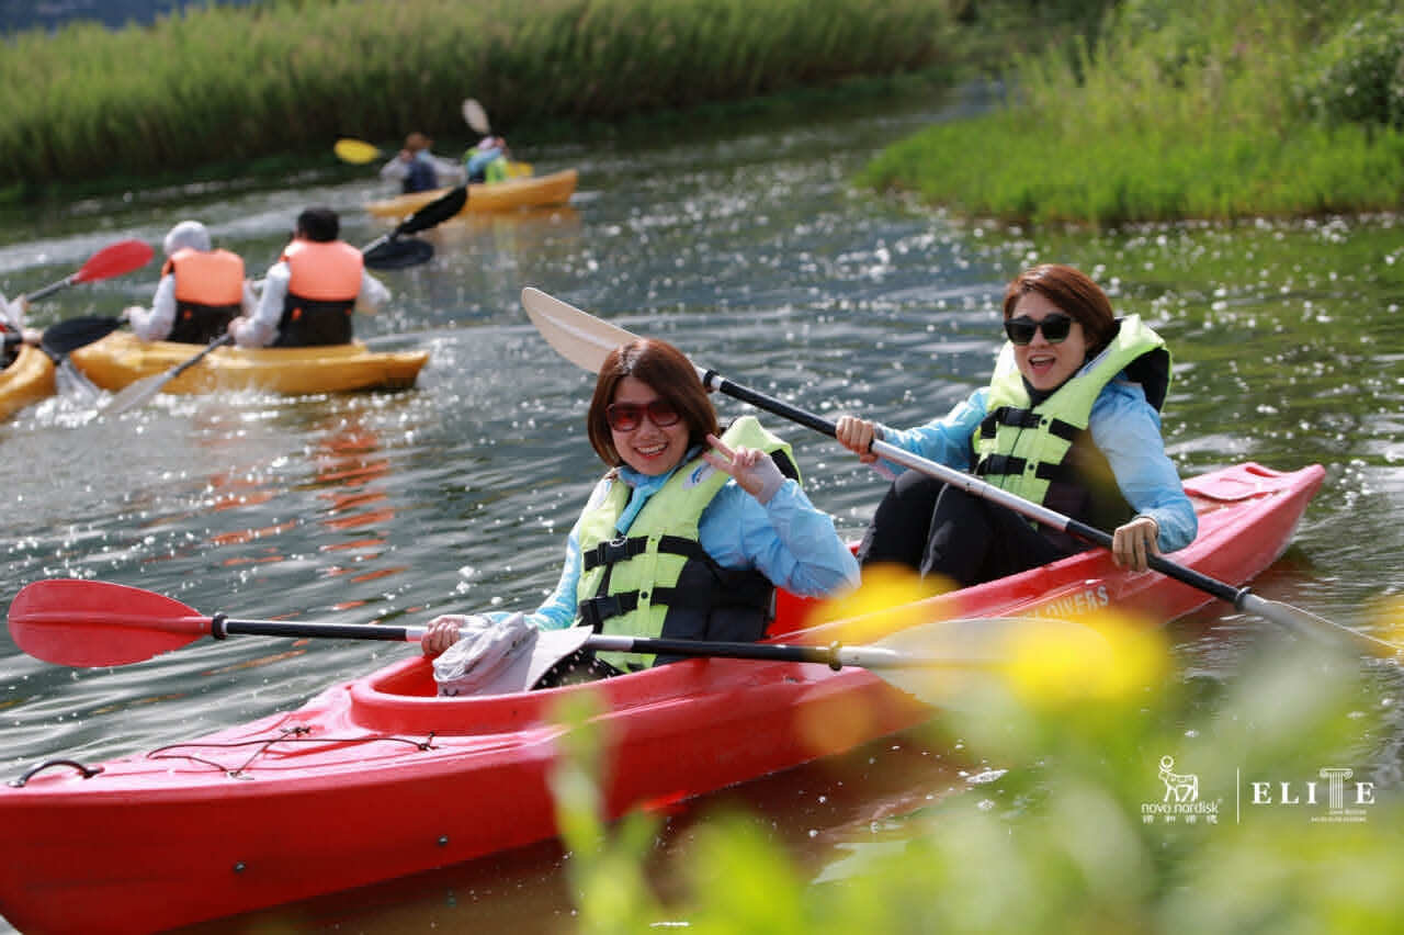
[[[264,0],[0,45],[0,202],[265,175],[411,126],[451,152],[468,95],[541,140],[958,69],[1007,105],[861,184],[1036,225],[1404,201],[1389,0]]]

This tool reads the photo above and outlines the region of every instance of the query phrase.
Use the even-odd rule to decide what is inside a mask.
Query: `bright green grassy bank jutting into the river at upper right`
[[[1396,211],[1404,13],[1314,0],[1126,0],[1097,38],[1014,58],[1008,105],[861,177],[1012,223]]]

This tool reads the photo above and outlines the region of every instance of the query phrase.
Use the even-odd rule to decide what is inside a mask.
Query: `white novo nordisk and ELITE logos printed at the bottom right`
[[[1199,774],[1177,772],[1175,758],[1160,758],[1160,782],[1164,795],[1160,802],[1141,803],[1141,821],[1151,824],[1217,824],[1223,799],[1200,799]],[[1278,806],[1313,809],[1314,823],[1365,821],[1366,807],[1375,804],[1373,782],[1348,782],[1355,771],[1348,767],[1323,767],[1317,779],[1306,782],[1250,781],[1236,774],[1236,821],[1243,821],[1244,807]],[[1324,782],[1323,782],[1324,781]]]

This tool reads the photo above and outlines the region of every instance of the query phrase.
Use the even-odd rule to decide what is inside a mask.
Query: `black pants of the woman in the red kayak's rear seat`
[[[897,563],[969,587],[1067,553],[1007,507],[922,475],[901,473],[858,546],[862,564]]]

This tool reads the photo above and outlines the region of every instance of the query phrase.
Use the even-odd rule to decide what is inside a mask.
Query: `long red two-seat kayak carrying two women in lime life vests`
[[[1226,581],[1252,578],[1286,549],[1323,476],[1320,466],[1279,473],[1247,463],[1186,482],[1199,536],[1172,557]],[[1092,549],[918,602],[913,619],[1122,609],[1154,625],[1210,599],[1154,571],[1123,573]],[[778,640],[831,643],[838,625],[806,626],[804,609],[782,601]],[[548,775],[566,730],[552,710],[580,692],[597,692],[602,712],[611,816],[934,716],[870,668],[757,658],[441,698],[430,664],[407,649],[403,661],[296,710],[100,765],[53,761],[0,786],[0,914],[46,935],[150,932],[549,840],[557,828]]]

